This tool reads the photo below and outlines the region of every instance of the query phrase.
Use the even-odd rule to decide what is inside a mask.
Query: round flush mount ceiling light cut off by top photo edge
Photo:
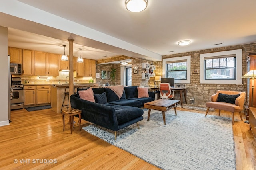
[[[140,12],[147,8],[148,0],[126,0],[125,7],[131,12]]]

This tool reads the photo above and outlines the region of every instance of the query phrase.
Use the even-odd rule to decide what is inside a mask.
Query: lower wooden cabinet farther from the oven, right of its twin
[[[36,104],[51,103],[50,100],[50,86],[41,85],[36,86]]]

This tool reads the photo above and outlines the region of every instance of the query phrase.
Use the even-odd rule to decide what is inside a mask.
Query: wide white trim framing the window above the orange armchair
[[[204,79],[204,58],[220,55],[236,54],[236,80],[205,80]],[[220,51],[215,53],[200,54],[200,83],[205,84],[242,84],[242,49]]]

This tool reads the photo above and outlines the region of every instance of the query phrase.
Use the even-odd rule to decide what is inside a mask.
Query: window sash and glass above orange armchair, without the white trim
[[[234,56],[234,57],[233,57]],[[211,79],[235,79],[236,78],[236,55],[230,57],[206,57],[205,65],[205,80]]]

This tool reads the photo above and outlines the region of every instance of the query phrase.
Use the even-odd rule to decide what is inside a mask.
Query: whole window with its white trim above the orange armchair
[[[200,83],[241,84],[242,49],[200,55]]]

